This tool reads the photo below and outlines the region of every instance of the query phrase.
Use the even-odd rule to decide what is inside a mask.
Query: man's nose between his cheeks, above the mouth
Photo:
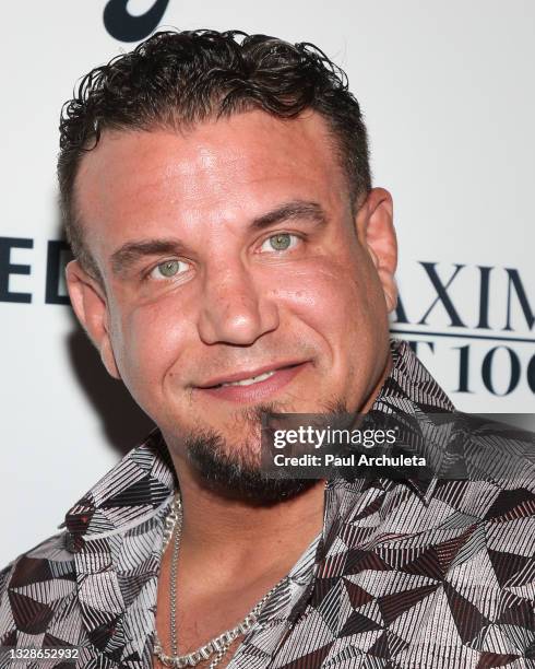
[[[254,281],[239,259],[204,278],[199,334],[206,344],[248,345],[278,326],[271,286]],[[270,296],[271,294],[271,296]]]

